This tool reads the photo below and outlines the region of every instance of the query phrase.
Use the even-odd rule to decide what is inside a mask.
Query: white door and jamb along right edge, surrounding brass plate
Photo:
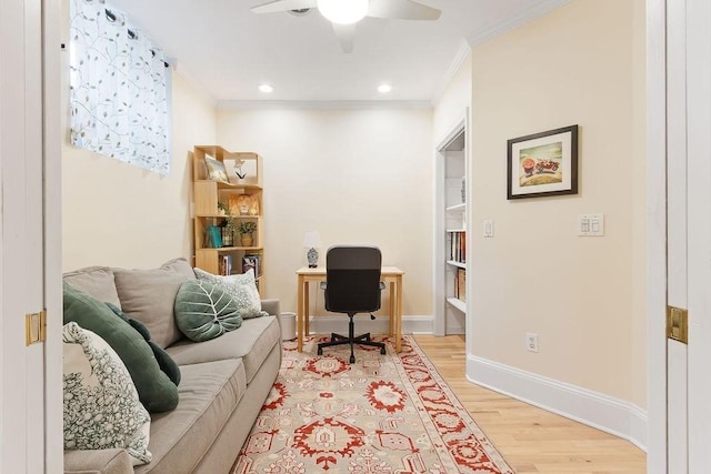
[[[647,6],[648,472],[705,473],[711,465],[711,4],[649,0]],[[667,304],[688,310],[688,344],[667,337]]]

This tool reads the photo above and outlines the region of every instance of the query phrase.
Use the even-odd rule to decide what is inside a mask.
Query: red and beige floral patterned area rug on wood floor
[[[347,345],[284,343],[284,360],[232,474],[509,474],[503,461],[422,350],[397,355]]]

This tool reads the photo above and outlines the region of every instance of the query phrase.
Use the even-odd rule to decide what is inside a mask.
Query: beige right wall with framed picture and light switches
[[[474,48],[470,177],[473,229],[495,229],[473,234],[474,355],[640,406],[643,24],[641,0],[577,0]],[[508,201],[507,140],[575,123],[579,193]],[[592,212],[604,238],[578,236]]]

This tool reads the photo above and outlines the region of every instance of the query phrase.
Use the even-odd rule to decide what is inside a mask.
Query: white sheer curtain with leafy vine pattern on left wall
[[[162,52],[104,0],[71,0],[71,143],[170,172]]]

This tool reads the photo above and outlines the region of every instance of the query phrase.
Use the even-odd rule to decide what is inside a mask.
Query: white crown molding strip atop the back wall
[[[398,100],[221,100],[217,102],[219,110],[357,110],[357,109],[432,109],[429,101]]]

